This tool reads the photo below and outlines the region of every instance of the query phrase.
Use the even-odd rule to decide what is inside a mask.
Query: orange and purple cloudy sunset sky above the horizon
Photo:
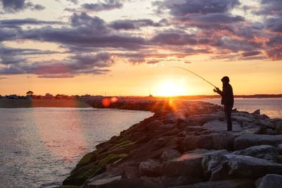
[[[0,0],[0,94],[282,94],[281,0]]]

